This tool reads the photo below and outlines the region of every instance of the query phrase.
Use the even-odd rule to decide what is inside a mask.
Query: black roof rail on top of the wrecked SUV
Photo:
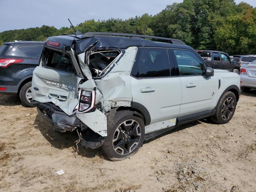
[[[120,36],[120,37],[130,37],[130,38],[151,38],[151,39],[161,39],[170,41],[172,44],[185,45],[184,42],[178,39],[171,39],[165,37],[147,36],[147,35],[135,35],[127,33],[106,33],[106,32],[86,32],[82,35],[82,38],[89,37],[108,37],[108,36]]]

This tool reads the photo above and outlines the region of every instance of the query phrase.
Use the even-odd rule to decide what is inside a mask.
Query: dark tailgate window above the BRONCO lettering
[[[68,55],[62,56],[61,52],[46,48],[42,60],[47,67],[74,73],[70,57]]]

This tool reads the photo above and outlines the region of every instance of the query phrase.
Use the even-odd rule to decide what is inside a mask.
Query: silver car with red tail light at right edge
[[[256,88],[256,60],[250,64],[242,64],[240,78],[242,91],[249,92],[251,88]]]

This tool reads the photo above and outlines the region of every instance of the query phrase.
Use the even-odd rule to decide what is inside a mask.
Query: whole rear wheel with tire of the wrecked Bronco
[[[129,110],[115,110],[108,115],[108,136],[102,150],[110,160],[124,160],[138,151],[144,138],[145,126],[142,118]]]

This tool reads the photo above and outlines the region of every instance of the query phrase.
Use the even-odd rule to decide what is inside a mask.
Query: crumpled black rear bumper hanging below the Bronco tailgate
[[[76,116],[68,116],[61,110],[56,110],[49,104],[43,104],[37,101],[31,102],[37,107],[38,115],[40,118],[54,130],[59,132],[72,132],[81,122]]]

